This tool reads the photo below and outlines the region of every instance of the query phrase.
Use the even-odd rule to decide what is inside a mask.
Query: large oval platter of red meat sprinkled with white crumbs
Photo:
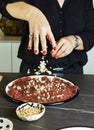
[[[56,76],[35,75],[16,79],[6,86],[12,99],[42,104],[65,102],[73,98],[79,87]]]

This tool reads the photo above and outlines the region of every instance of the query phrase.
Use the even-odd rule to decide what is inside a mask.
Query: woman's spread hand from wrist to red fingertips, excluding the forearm
[[[39,53],[39,41],[42,46],[42,54],[46,55],[47,53],[47,41],[49,40],[52,49],[56,49],[56,42],[53,36],[51,27],[49,25],[48,20],[44,16],[44,14],[37,8],[34,7],[33,11],[28,15],[28,23],[29,23],[29,44],[28,50],[32,49],[32,45],[34,44],[34,53]]]

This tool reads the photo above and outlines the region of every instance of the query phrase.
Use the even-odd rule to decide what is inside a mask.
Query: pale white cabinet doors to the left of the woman
[[[21,60],[17,58],[19,42],[0,41],[0,72],[19,72]]]

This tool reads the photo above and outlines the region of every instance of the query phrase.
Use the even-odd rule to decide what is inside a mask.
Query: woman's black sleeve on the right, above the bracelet
[[[85,1],[85,31],[79,36],[83,40],[85,51],[88,51],[94,46],[94,8],[92,0]]]

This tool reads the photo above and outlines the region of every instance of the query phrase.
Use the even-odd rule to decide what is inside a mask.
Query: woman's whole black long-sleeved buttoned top
[[[12,18],[6,11],[7,3],[19,0],[2,0],[0,11],[8,18]],[[52,67],[68,67],[78,63],[83,66],[87,62],[86,52],[94,46],[94,9],[92,0],[65,0],[64,5],[60,8],[57,0],[21,0],[30,3],[39,8],[47,17],[56,41],[61,37],[69,35],[79,35],[84,44],[84,50],[73,52],[60,59],[51,56],[51,45],[48,44],[48,53],[45,57],[48,65]],[[37,19],[37,18],[36,18]],[[37,66],[41,60],[42,54],[35,55],[33,50],[28,51],[29,40],[28,23],[24,21],[22,40],[18,51],[18,57],[23,59],[27,64]],[[41,47],[40,47],[41,49]]]

